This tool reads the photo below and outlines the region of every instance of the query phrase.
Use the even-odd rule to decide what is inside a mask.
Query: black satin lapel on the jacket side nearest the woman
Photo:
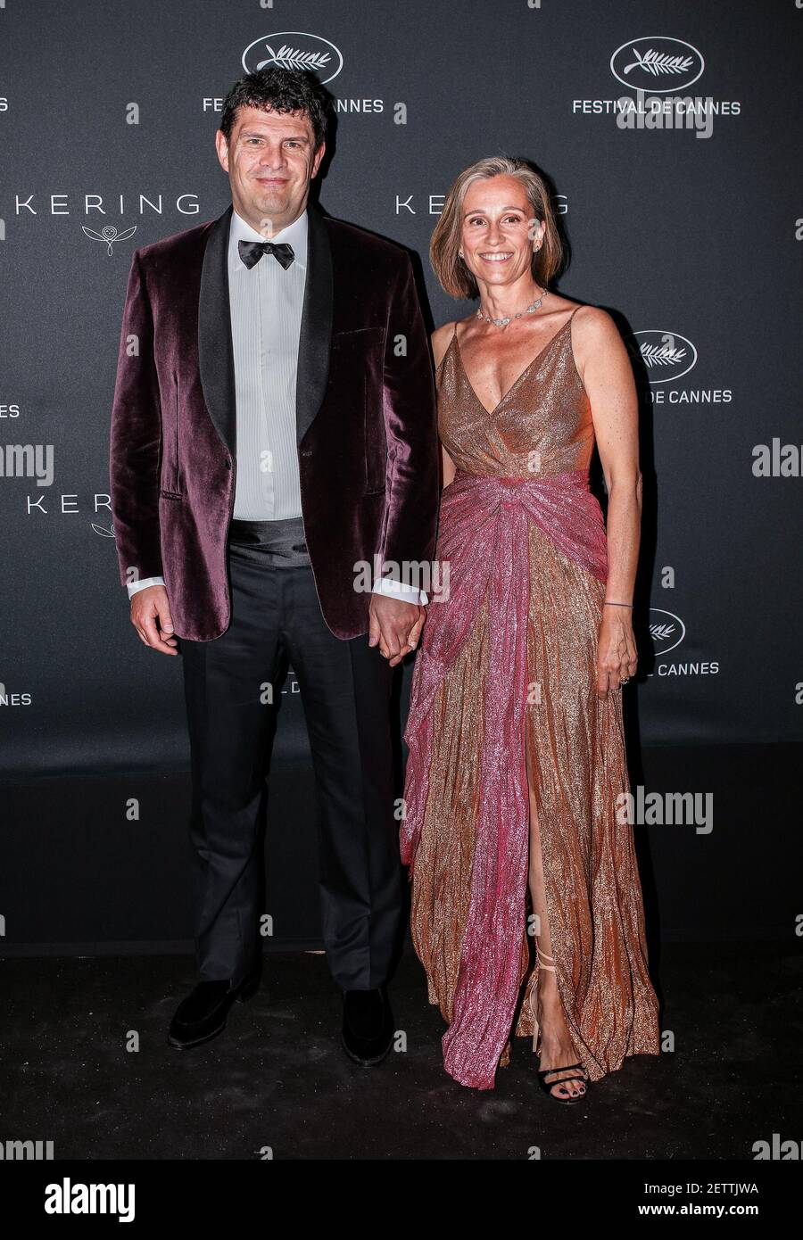
[[[307,281],[295,382],[298,444],[309,430],[326,391],[334,301],[329,231],[316,207],[308,206],[307,213]]]

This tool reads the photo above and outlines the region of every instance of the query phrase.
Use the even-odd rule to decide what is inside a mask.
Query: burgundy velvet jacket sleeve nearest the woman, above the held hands
[[[387,466],[379,556],[382,565],[400,565],[382,568],[382,575],[426,590],[438,521],[438,430],[429,342],[406,254],[388,306],[382,405]]]

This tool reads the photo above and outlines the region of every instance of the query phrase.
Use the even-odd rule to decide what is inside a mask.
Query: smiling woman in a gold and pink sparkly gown
[[[611,316],[547,291],[560,239],[524,161],[458,176],[431,260],[479,308],[433,334],[448,588],[427,610],[405,730],[413,942],[455,1080],[493,1089],[515,1033],[534,1038],[546,1092],[576,1102],[626,1055],[659,1053],[617,813],[637,668],[634,382]]]

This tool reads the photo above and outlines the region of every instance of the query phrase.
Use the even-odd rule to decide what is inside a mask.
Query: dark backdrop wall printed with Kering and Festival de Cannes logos
[[[119,585],[109,408],[132,252],[227,205],[221,102],[266,63],[336,95],[320,202],[419,255],[433,325],[470,309],[427,260],[454,176],[546,175],[559,289],[614,315],[642,396],[640,744],[799,738],[802,24],[799,0],[0,4],[2,776],[187,765],[180,661]],[[274,764],[309,779],[295,689]]]

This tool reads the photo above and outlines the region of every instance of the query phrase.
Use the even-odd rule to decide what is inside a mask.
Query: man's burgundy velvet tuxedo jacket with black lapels
[[[134,252],[112,412],[120,579],[164,577],[175,631],[194,641],[218,637],[231,619],[231,213]],[[406,252],[312,203],[308,213],[295,414],[302,516],[324,620],[348,639],[369,629],[357,562],[374,572],[375,556],[403,565],[434,554],[434,384]]]

